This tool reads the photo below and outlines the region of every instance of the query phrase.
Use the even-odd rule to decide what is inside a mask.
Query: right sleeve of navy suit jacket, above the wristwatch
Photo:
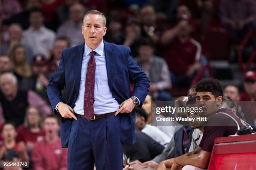
[[[131,84],[134,84],[134,92],[133,96],[138,97],[140,100],[141,107],[143,102],[148,94],[149,90],[149,80],[143,70],[136,64],[136,62],[131,57],[131,50],[128,48],[128,55],[127,55],[127,65],[128,65],[128,72]]]

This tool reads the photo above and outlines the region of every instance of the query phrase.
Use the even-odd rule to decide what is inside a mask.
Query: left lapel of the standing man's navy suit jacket
[[[81,70],[82,70],[82,60],[84,54],[84,43],[79,45],[77,51],[74,52],[74,56],[72,57],[72,65],[74,67],[74,83],[76,87],[77,93],[79,92],[80,80],[81,80]]]

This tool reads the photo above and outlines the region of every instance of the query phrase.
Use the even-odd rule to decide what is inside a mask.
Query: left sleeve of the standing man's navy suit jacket
[[[47,85],[47,95],[51,102],[51,107],[56,113],[55,107],[61,101],[61,90],[64,89],[65,85],[65,71],[64,71],[64,53],[62,52],[61,60],[56,71],[51,76],[51,80]]]

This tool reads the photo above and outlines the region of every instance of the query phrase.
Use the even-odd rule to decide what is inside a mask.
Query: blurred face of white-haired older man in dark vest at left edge
[[[17,84],[10,77],[2,77],[0,80],[0,88],[5,97],[12,96],[17,90]]]

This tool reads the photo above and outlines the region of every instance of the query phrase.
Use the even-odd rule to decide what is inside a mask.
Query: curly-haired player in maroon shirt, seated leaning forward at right
[[[217,79],[200,80],[197,82],[196,91],[196,100],[200,102],[200,107],[204,106],[202,115],[208,117],[200,145],[194,152],[162,161],[157,170],[165,168],[178,170],[186,165],[186,168],[191,169],[207,168],[215,138],[234,135],[238,130],[236,122],[241,127],[244,125],[250,127],[234,115],[232,110],[222,107],[223,90]]]

